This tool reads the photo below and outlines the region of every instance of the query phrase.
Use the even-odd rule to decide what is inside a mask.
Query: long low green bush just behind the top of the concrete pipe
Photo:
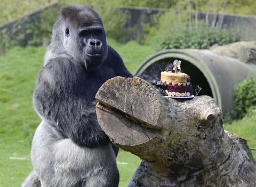
[[[225,45],[240,41],[240,34],[234,30],[218,29],[209,26],[192,28],[183,26],[174,29],[170,34],[160,35],[153,38],[153,46],[156,51],[165,49],[208,49],[214,44]]]

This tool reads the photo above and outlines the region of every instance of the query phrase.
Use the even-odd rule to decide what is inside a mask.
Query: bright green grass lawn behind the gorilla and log
[[[108,40],[108,43],[120,53],[132,73],[154,52],[150,46],[140,46],[135,42],[120,45]],[[17,47],[0,57],[0,187],[19,187],[32,171],[31,141],[40,123],[32,107],[32,93],[42,68],[44,52],[44,47]],[[256,115],[224,127],[247,139],[251,147],[256,147]],[[117,162],[119,186],[125,187],[140,159],[121,150]]]

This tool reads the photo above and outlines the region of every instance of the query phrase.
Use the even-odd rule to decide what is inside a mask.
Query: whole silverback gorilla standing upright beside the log
[[[94,98],[115,76],[132,74],[108,46],[100,16],[88,6],[65,6],[34,91],[42,122],[32,141],[34,171],[23,187],[118,186],[118,149],[98,125]]]

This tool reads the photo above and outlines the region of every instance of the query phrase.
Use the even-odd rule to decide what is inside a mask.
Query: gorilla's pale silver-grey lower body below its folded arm
[[[42,187],[117,187],[119,183],[110,143],[81,147],[44,121],[36,129],[31,159]]]

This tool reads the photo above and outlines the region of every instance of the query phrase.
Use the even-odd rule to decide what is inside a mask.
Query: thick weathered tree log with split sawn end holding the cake
[[[246,140],[224,131],[211,97],[174,100],[141,78],[116,77],[96,99],[100,127],[142,159],[129,187],[256,186]]]

